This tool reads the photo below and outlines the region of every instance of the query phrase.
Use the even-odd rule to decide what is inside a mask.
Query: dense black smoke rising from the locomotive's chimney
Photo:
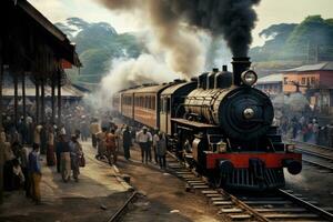
[[[245,57],[260,0],[170,0],[170,7],[194,27],[223,36],[234,57]]]

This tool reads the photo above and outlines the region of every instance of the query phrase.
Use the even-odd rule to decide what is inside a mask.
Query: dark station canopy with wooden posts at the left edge
[[[26,107],[34,95],[33,118],[43,122],[50,89],[52,122],[57,113],[60,123],[64,69],[81,67],[75,46],[27,0],[1,0],[0,24],[0,113],[6,111],[6,99],[11,97],[14,122],[19,121],[20,102],[26,119]],[[6,75],[11,77],[10,83],[6,82]]]

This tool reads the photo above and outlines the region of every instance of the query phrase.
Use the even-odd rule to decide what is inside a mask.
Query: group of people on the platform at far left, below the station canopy
[[[65,107],[64,107],[65,108]],[[47,109],[48,110],[48,107]],[[9,111],[2,113],[0,128],[0,175],[3,178],[3,190],[24,190],[27,198],[37,204],[41,201],[40,182],[42,178],[41,154],[46,154],[46,164],[57,165],[63,182],[72,178],[79,181],[80,165],[84,165],[84,155],[79,138],[85,141],[89,137],[89,122],[82,105],[63,109],[62,120],[56,124],[47,112],[43,122],[36,122],[28,114],[16,123]],[[2,189],[0,189],[2,192]],[[2,199],[2,193],[0,193]]]

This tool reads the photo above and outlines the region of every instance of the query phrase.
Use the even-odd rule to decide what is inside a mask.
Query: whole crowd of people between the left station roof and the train
[[[105,159],[111,165],[117,163],[120,151],[125,160],[131,161],[131,148],[137,142],[142,163],[154,160],[161,169],[167,167],[167,139],[162,132],[145,127],[118,127],[109,112],[90,114],[82,105],[69,105],[63,109],[60,124],[52,122],[49,114],[41,123],[30,114],[22,117],[17,124],[9,113],[2,118],[0,173],[3,172],[4,191],[24,190],[37,204],[41,201],[43,164],[40,154],[46,157],[47,167],[54,167],[61,174],[64,183],[71,178],[78,182],[80,167],[85,165],[81,142],[88,138],[97,150],[95,158]]]

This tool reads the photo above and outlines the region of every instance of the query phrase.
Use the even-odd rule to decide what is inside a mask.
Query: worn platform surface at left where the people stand
[[[0,221],[108,221],[131,195],[131,186],[120,180],[114,168],[94,159],[95,150],[84,142],[85,167],[79,182],[63,183],[56,167],[42,160],[41,204],[34,205],[24,191],[7,192],[0,205]]]

